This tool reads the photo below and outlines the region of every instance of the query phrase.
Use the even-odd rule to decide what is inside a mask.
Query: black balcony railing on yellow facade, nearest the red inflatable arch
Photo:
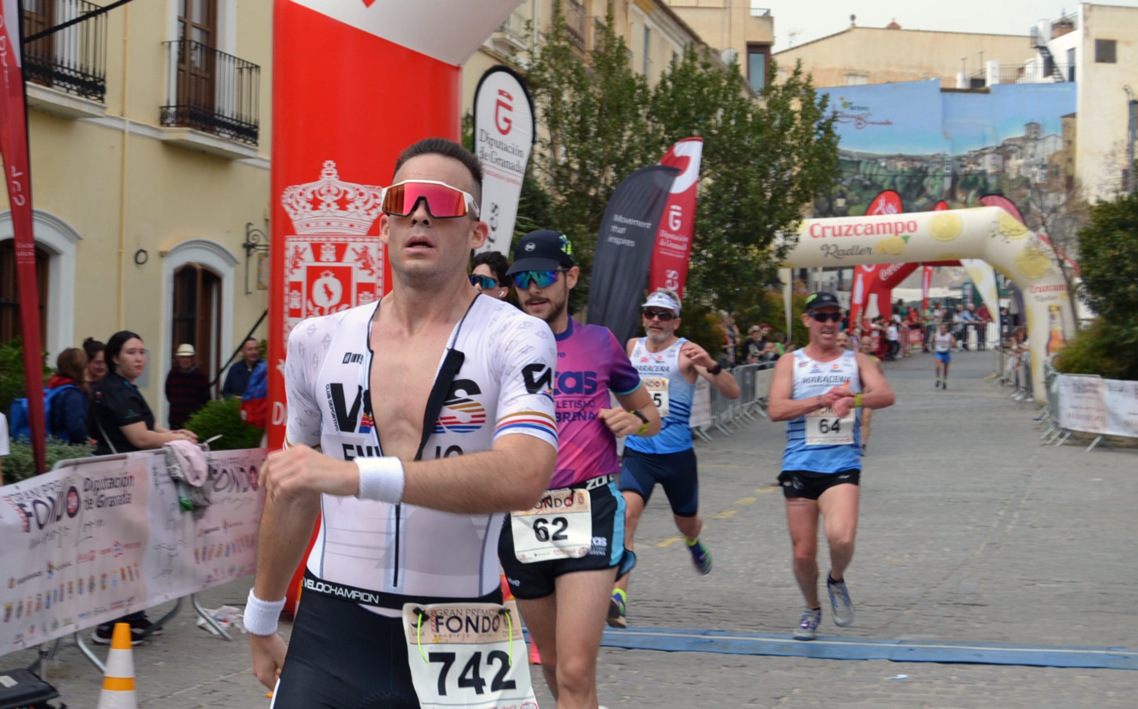
[[[261,67],[200,42],[164,44],[170,64],[162,124],[257,145]]]

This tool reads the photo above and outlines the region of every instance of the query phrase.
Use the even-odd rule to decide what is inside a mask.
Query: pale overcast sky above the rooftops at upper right
[[[790,33],[798,32],[794,44],[841,32],[857,15],[864,27],[884,27],[896,19],[906,30],[947,32],[987,32],[1028,34],[1040,19],[1055,19],[1074,13],[1070,0],[756,0],[769,7],[775,19],[775,51],[790,47]],[[1138,0],[1107,0],[1103,5],[1138,7]]]

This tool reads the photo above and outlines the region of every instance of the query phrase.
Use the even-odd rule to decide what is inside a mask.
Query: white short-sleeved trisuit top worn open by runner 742
[[[284,365],[287,446],[319,445],[338,460],[382,455],[369,396],[370,331],[378,306],[313,318],[292,329]],[[489,451],[498,437],[511,434],[556,448],[550,382],[558,354],[545,322],[478,296],[455,325],[450,346],[465,360],[423,460]],[[445,352],[439,365],[444,358]],[[382,405],[382,395],[374,401]],[[335,495],[323,495],[321,513],[307,564],[320,579],[411,599],[475,599],[498,586],[501,513],[455,514]]]

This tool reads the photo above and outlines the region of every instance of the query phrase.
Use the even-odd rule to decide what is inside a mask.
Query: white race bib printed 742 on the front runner
[[[403,607],[411,681],[422,709],[537,709],[521,618],[511,601]]]

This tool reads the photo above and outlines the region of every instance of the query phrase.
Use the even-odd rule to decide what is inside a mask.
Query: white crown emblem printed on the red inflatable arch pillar
[[[363,236],[379,217],[381,187],[341,182],[333,160],[324,160],[320,179],[294,184],[281,193],[281,206],[297,234]]]

